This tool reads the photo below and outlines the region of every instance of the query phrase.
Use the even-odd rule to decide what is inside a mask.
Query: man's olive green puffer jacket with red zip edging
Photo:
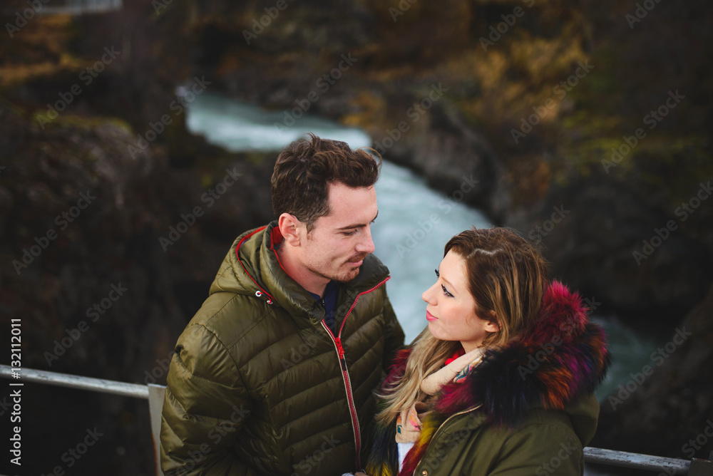
[[[275,222],[238,237],[178,338],[166,475],[341,475],[364,461],[372,391],[404,343],[389,271],[369,255],[339,285],[332,333],[322,305],[279,266],[280,238]]]

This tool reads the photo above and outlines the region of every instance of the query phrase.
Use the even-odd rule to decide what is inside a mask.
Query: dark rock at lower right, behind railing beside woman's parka
[[[593,446],[708,459],[713,370],[713,287],[651,361],[602,403]]]

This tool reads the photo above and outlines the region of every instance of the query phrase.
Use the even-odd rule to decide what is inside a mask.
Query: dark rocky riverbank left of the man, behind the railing
[[[270,207],[246,204],[269,202],[272,162],[200,139],[190,168],[156,148],[133,159],[125,123],[77,118],[41,131],[1,105],[0,130],[1,314],[3,326],[21,321],[23,367],[165,383],[162,362],[232,239],[271,219]],[[73,474],[153,465],[143,400],[30,384],[22,415],[33,437],[24,474],[66,469],[67,445],[95,427],[103,436]],[[16,474],[6,464],[0,472]]]

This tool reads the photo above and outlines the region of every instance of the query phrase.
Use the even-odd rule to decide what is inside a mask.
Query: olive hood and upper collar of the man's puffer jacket
[[[231,292],[277,303],[293,316],[307,316],[322,320],[321,308],[314,297],[287,274],[277,258],[277,247],[282,242],[277,222],[252,229],[235,239],[213,280],[209,294]],[[344,285],[354,295],[371,289],[388,279],[389,269],[369,254],[361,264],[356,278]]]

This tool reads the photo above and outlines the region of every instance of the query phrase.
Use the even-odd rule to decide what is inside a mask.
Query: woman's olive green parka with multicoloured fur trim
[[[550,284],[531,328],[429,400],[400,471],[396,425],[376,426],[368,475],[582,475],[599,415],[593,391],[610,364],[604,331],[586,311],[578,294]],[[383,392],[404,376],[410,353],[397,355]]]

